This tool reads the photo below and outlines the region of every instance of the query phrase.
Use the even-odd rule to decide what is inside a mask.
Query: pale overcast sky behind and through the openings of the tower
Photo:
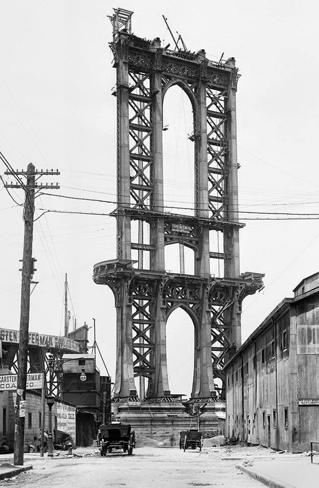
[[[235,57],[241,272],[265,273],[264,289],[243,302],[242,340],[304,278],[319,271],[317,80],[318,3],[315,1],[210,0],[178,2],[123,0],[0,1],[0,151],[14,168],[58,168],[56,196],[36,199],[43,209],[109,213],[113,204],[70,200],[61,195],[115,200],[115,69],[108,43],[107,15],[121,6],[135,13],[133,32],[170,42],[162,19],[178,31],[191,51],[205,49],[218,60]],[[224,54],[223,54],[224,53]],[[164,179],[167,201],[193,198],[191,107],[173,87],[164,102]],[[5,168],[0,167],[3,175]],[[3,176],[6,178],[5,176]],[[10,181],[11,178],[8,178]],[[51,192],[53,193],[53,191]],[[22,190],[11,195],[21,203]],[[247,214],[252,212],[277,212]],[[256,218],[292,220],[256,220]],[[316,217],[316,215],[314,216]],[[296,219],[298,218],[298,220]],[[302,218],[302,219],[301,219]],[[1,327],[18,329],[22,209],[0,188]],[[31,296],[30,330],[63,334],[64,275],[69,308],[77,325],[93,325],[114,379],[115,307],[111,290],[92,280],[95,263],[116,258],[116,222],[108,216],[46,213],[34,225],[37,259]],[[166,269],[175,265],[167,251]],[[186,256],[186,261],[189,257]],[[191,266],[189,264],[189,266]],[[70,326],[72,327],[73,319]],[[92,341],[93,328],[89,331]],[[182,339],[181,339],[182,337]],[[174,393],[189,395],[193,368],[193,327],[175,311],[167,322],[168,374]],[[101,373],[105,374],[98,359]]]

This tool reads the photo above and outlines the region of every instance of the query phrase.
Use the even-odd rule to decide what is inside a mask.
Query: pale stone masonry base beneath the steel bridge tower
[[[180,431],[199,427],[205,438],[224,434],[225,403],[207,400],[117,402],[112,404],[112,412],[114,419],[131,424],[137,445],[178,446]]]

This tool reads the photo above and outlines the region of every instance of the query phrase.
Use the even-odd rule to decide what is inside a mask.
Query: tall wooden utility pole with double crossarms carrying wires
[[[22,258],[22,279],[21,279],[21,308],[20,308],[20,335],[19,335],[19,352],[18,352],[18,374],[16,388],[15,404],[15,428],[14,428],[14,466],[23,465],[23,447],[24,447],[24,420],[25,420],[25,396],[26,396],[26,373],[27,373],[27,355],[29,339],[29,315],[30,315],[30,282],[35,271],[34,258],[32,258],[32,241],[33,241],[33,215],[34,215],[34,194],[35,190],[42,188],[57,189],[58,185],[38,185],[36,179],[43,174],[60,174],[58,170],[37,171],[32,163],[29,163],[27,170],[24,171],[5,171],[14,177],[21,175],[26,177],[26,184],[6,183],[6,188],[23,188],[25,192],[23,220],[24,220],[24,241],[23,241],[23,258]],[[36,178],[37,176],[37,178]]]

